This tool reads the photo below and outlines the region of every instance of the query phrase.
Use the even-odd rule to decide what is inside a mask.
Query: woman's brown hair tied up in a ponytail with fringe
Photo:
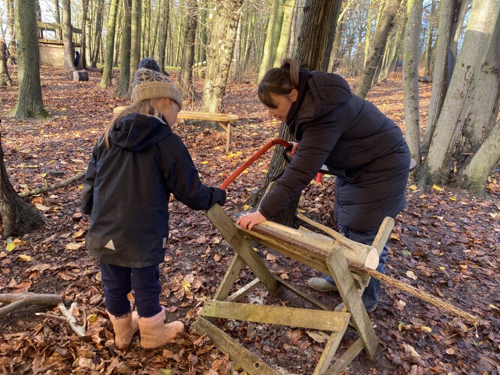
[[[293,58],[286,57],[280,67],[267,70],[258,84],[257,94],[264,105],[275,108],[276,103],[269,93],[288,95],[294,88],[298,88],[298,64]]]

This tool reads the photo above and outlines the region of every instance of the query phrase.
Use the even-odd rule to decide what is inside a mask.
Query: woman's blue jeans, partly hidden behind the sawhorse
[[[367,232],[356,232],[342,225],[339,225],[339,228],[341,231],[343,231],[344,235],[347,238],[352,239],[353,241],[359,243],[364,243],[366,245],[371,245],[373,243],[373,240],[375,239],[376,233],[378,231],[378,230],[370,230]],[[389,251],[387,248],[387,244],[385,244],[380,254],[380,258],[378,259],[378,267],[376,267],[376,270],[378,272],[383,272],[384,263],[385,260],[387,259],[388,254]],[[328,281],[330,284],[333,285],[335,284],[331,276],[326,276],[325,280]],[[368,282],[368,286],[364,288],[363,294],[361,295],[361,300],[363,301],[364,307],[366,308],[367,311],[371,310],[376,306],[378,302],[379,290],[380,290],[380,281],[374,277],[371,277],[370,281]]]

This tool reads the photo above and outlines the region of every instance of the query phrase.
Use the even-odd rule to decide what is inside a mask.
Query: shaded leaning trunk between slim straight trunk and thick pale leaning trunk
[[[422,153],[426,154],[430,139],[434,133],[435,123],[441,112],[442,103],[446,95],[447,59],[451,43],[453,12],[457,0],[442,0],[439,15],[439,26],[436,41],[436,55],[434,73],[432,75],[432,90],[429,103],[427,126],[422,141]]]

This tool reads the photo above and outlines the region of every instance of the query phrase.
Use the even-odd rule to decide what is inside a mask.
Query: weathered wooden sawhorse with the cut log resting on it
[[[349,240],[338,233],[330,233],[332,237],[329,237],[305,228],[292,229],[272,221],[265,221],[252,230],[245,230],[234,224],[218,204],[206,211],[206,215],[236,252],[213,300],[205,302],[200,316],[193,324],[194,329],[208,335],[220,351],[228,354],[231,360],[250,375],[279,374],[276,369],[215,326],[213,321],[217,317],[331,331],[314,369],[314,375],[340,373],[363,348],[370,360],[377,356],[378,339],[360,297],[369,277],[351,273],[347,260],[376,268],[378,256],[394,225],[392,218],[384,219],[372,246],[368,246]],[[248,240],[255,240],[300,263],[330,274],[345,303],[344,310],[331,311],[307,293],[276,277],[253,250]],[[256,278],[229,295],[243,263],[246,263]],[[237,302],[259,285],[265,287],[272,295],[278,295],[283,288],[286,288],[318,309],[260,306]],[[359,338],[330,366],[349,323],[357,331]]]

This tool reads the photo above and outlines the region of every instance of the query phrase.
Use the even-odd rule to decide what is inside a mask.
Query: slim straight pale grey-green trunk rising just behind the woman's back
[[[403,88],[405,135],[411,157],[420,163],[420,125],[418,111],[418,49],[422,27],[422,2],[408,0],[403,43]]]

